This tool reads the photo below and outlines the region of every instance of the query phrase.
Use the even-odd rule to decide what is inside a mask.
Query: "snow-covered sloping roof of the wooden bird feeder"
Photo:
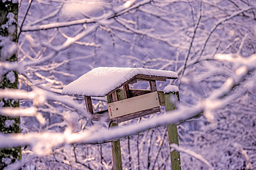
[[[68,84],[62,90],[63,95],[106,96],[121,87],[134,76],[147,75],[176,79],[174,71],[154,70],[130,67],[97,67]]]

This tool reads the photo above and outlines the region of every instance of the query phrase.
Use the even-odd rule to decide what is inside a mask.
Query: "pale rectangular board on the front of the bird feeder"
[[[146,95],[108,103],[109,118],[120,117],[158,106],[160,106],[158,92],[151,92]]]

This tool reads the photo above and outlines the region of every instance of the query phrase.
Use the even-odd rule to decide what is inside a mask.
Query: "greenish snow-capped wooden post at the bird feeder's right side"
[[[166,103],[166,112],[167,111],[172,111],[175,109],[175,103],[179,101],[179,92],[168,92],[164,94],[165,98],[165,103]],[[176,143],[179,145],[179,138],[178,138],[178,133],[177,133],[177,125],[168,125],[168,138],[169,138],[169,146],[171,143]],[[171,150],[171,147],[170,147]],[[176,169],[181,169],[181,164],[180,164],[180,152],[173,151],[170,152],[171,156],[171,168],[172,170]]]

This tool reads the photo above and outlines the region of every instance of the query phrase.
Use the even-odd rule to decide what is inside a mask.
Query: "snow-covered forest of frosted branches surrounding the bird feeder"
[[[123,169],[171,169],[168,124],[182,169],[256,168],[255,0],[21,0],[18,61],[2,59],[7,42],[0,74],[14,81],[18,71],[19,84],[0,99],[19,107],[0,103],[0,115],[20,117],[21,133],[0,133],[0,148],[21,146],[22,159],[6,169],[113,169],[117,138]],[[92,123],[84,97],[61,91],[100,66],[175,71],[157,87],[179,87],[180,104],[119,128]],[[105,97],[92,101],[106,108]]]

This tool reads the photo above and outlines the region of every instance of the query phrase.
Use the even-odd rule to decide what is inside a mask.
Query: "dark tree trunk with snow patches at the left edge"
[[[0,1],[0,61],[16,61],[18,2]],[[17,88],[16,71],[0,72],[0,88]],[[0,108],[19,107],[18,100],[0,99]],[[0,133],[20,133],[20,118],[0,116]],[[21,158],[21,148],[0,149],[0,169]]]

